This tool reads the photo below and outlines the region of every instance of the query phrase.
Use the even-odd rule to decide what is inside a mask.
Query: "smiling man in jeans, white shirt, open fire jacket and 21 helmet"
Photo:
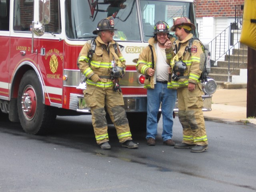
[[[169,37],[169,26],[164,21],[159,21],[154,27],[154,36],[148,40],[149,45],[139,55],[137,71],[146,75],[144,88],[147,89],[147,135],[149,146],[156,144],[157,116],[161,105],[163,116],[163,144],[174,146],[172,140],[173,116],[172,112],[177,98],[177,90],[173,89],[169,81],[165,46]],[[169,39],[168,39],[169,40]],[[175,38],[171,38],[172,41]],[[171,78],[170,78],[171,80]]]

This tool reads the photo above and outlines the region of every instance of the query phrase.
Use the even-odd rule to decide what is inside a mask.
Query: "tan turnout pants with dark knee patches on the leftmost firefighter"
[[[132,140],[126,112],[122,107],[124,105],[122,93],[115,92],[112,87],[99,88],[87,85],[87,89],[84,90],[84,99],[92,112],[92,125],[98,144],[109,141],[105,106],[116,128],[119,142]]]

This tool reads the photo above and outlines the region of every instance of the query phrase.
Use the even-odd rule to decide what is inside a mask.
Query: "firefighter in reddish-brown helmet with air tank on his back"
[[[190,32],[194,24],[186,17],[174,18],[171,31],[177,40],[166,42],[166,56],[171,58],[172,78],[178,87],[178,116],[183,128],[183,141],[174,148],[191,148],[191,152],[208,150],[208,140],[202,112],[202,86],[200,75],[204,66],[204,52],[198,40],[194,40],[191,50],[186,50],[193,37]]]

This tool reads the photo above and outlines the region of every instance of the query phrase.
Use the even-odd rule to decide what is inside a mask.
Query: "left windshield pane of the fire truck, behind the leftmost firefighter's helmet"
[[[115,28],[118,29],[115,31],[115,40],[141,41],[135,0],[79,0],[79,3],[77,0],[66,0],[65,8],[66,36],[69,39],[94,37],[92,32],[98,22],[112,15]]]

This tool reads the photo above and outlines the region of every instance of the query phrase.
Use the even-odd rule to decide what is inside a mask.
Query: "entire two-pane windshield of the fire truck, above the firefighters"
[[[140,6],[139,9],[137,7]],[[154,24],[164,20],[172,26],[173,18],[186,16],[195,24],[191,0],[66,0],[66,36],[73,40],[89,40],[103,18],[113,16],[114,40],[144,41],[153,36]],[[192,32],[197,36],[197,32]]]

